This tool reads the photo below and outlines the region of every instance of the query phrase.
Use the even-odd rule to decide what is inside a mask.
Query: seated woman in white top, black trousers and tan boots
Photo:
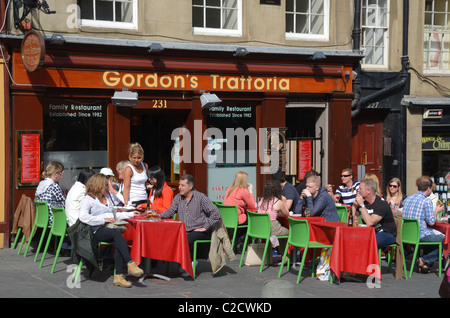
[[[108,204],[105,193],[108,190],[108,179],[105,175],[97,173],[86,183],[86,195],[81,200],[80,221],[90,225],[94,238],[98,242],[112,242],[115,246],[114,263],[116,275],[114,285],[131,287],[124,275],[124,264],[127,264],[128,274],[140,277],[144,271],[132,261],[128,251],[128,245],[122,232],[118,229],[106,227],[107,223],[116,221],[114,207]],[[118,213],[118,219],[125,219],[139,215],[139,212]]]

